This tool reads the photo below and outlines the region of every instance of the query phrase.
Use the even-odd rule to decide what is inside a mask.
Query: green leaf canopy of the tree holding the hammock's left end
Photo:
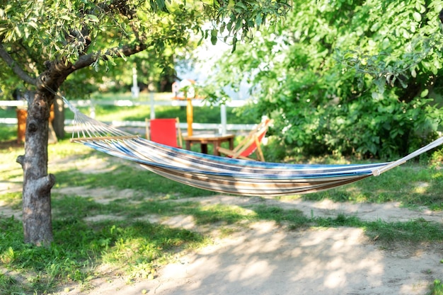
[[[1,55],[0,87],[28,88],[30,79],[11,74],[24,71],[30,78],[47,70],[49,61],[76,64],[65,92],[82,92],[79,85],[100,84],[103,74],[117,79],[131,76],[132,66],[120,62],[128,56],[148,79],[173,76],[175,55],[195,47],[193,35],[208,37],[202,24],[212,21],[211,35],[228,30],[243,38],[267,21],[275,21],[289,9],[287,1],[0,1],[0,45],[16,64]],[[36,46],[38,45],[38,46]],[[91,57],[86,59],[85,57]],[[11,66],[6,66],[6,64]],[[156,66],[160,65],[160,67]],[[18,66],[18,68],[15,68]],[[82,71],[92,66],[106,71]],[[160,69],[160,70],[159,70]],[[163,74],[161,74],[163,69]],[[128,73],[129,71],[129,73]],[[129,75],[128,75],[129,74]],[[158,79],[160,80],[160,79]],[[21,82],[19,82],[21,81]],[[20,83],[20,84],[19,84]],[[87,91],[86,91],[87,92]],[[8,96],[8,95],[5,95]]]

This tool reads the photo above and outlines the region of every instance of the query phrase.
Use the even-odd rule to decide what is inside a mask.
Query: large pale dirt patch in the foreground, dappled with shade
[[[426,294],[443,275],[442,250],[380,250],[361,229],[290,232],[258,223],[166,265],[154,280],[98,279],[81,294]]]

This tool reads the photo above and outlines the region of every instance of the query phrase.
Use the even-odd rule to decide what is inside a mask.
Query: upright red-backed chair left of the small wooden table
[[[183,147],[180,120],[178,120],[178,117],[152,120],[146,118],[145,122],[146,139],[159,144],[165,144],[166,146]]]

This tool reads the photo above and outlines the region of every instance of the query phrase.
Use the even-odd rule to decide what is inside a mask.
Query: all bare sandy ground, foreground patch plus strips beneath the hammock
[[[19,183],[0,182],[0,193],[20,190]],[[131,190],[117,191],[84,187],[54,189],[60,194],[94,195],[98,202],[109,196],[130,196]],[[181,200],[180,200],[181,201]],[[178,201],[178,202],[180,202]],[[253,197],[211,196],[192,198],[205,204],[269,204],[299,209],[308,216],[336,216],[343,213],[364,220],[407,221],[423,218],[443,222],[443,212],[427,209],[413,211],[396,203],[349,204],[281,201]],[[16,217],[14,211],[0,203],[0,214]],[[108,218],[109,216],[97,216]],[[174,227],[198,230],[191,216],[155,219]],[[214,243],[195,252],[178,255],[174,263],[161,267],[156,277],[127,284],[122,277],[94,279],[93,289],[57,294],[114,295],[415,295],[427,294],[435,279],[443,279],[443,245],[407,245],[381,248],[369,241],[362,229],[310,229],[289,231],[273,222],[251,224],[226,238],[214,235]]]

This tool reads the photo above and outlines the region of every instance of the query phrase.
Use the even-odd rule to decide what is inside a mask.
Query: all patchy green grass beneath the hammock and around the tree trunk
[[[10,141],[15,129],[4,127],[0,141]],[[21,221],[0,215],[0,295],[49,294],[71,283],[90,288],[93,278],[105,276],[108,267],[128,282],[151,279],[156,270],[174,261],[178,253],[211,243],[204,232],[173,228],[149,221],[149,216],[167,219],[192,216],[197,226],[216,226],[222,235],[243,229],[256,221],[274,221],[289,231],[330,227],[363,229],[381,247],[442,243],[442,224],[424,219],[407,222],[362,221],[356,216],[306,216],[297,209],[226,204],[202,204],[196,197],[212,192],[181,185],[149,173],[139,166],[109,158],[80,144],[62,140],[49,146],[50,173],[57,177],[57,188],[107,188],[109,196],[98,202],[94,195],[52,193],[54,243],[48,248],[23,244]],[[0,173],[4,183],[21,183],[23,171],[16,163],[23,146],[1,146]],[[95,171],[84,170],[91,168]],[[101,164],[100,164],[101,163]],[[93,172],[93,173],[92,173]],[[282,197],[335,202],[400,202],[405,207],[443,209],[441,170],[408,164],[390,170],[379,178],[335,190],[304,196]],[[117,197],[114,191],[131,189],[130,197]],[[186,198],[185,200],[182,200]],[[0,195],[0,204],[21,208],[21,192]],[[75,208],[73,210],[73,208]],[[101,219],[93,219],[102,216]],[[107,217],[108,216],[108,217]],[[100,266],[100,267],[98,267]],[[442,279],[442,278],[436,278]],[[442,295],[443,285],[436,280],[432,295]]]

